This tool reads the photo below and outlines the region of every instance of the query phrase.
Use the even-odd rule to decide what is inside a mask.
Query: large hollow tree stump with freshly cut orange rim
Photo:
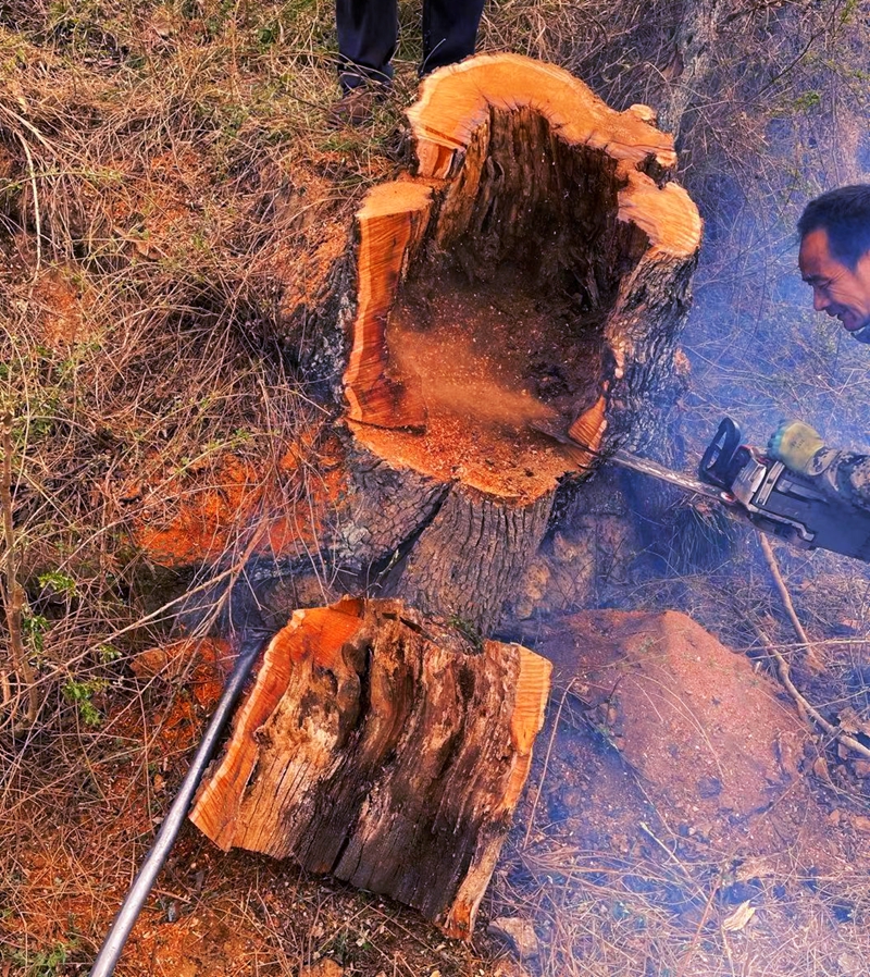
[[[660,420],[700,220],[651,112],[614,112],[552,65],[470,59],[408,115],[417,176],[358,213],[346,416],[376,459],[360,468],[437,496],[384,592],[486,632],[560,482]],[[366,527],[382,497],[358,494]]]

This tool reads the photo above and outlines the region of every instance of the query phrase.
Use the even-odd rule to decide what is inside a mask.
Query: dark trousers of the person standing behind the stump
[[[423,0],[423,63],[420,74],[474,53],[485,0]],[[336,0],[341,87],[388,83],[398,36],[397,0]]]

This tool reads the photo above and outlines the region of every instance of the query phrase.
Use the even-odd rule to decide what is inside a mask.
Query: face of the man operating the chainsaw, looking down
[[[804,281],[812,286],[812,307],[838,319],[859,343],[870,343],[870,251],[853,271],[831,256],[828,232],[810,231],[797,259]]]

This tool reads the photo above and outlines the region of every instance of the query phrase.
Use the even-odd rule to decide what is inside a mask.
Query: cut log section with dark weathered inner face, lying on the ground
[[[194,823],[469,937],[525,783],[549,664],[397,601],[298,610]]]

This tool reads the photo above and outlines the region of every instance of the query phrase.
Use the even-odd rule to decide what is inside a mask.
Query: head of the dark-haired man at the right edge
[[[797,222],[798,263],[812,305],[870,343],[870,185],[845,186],[811,200]]]

